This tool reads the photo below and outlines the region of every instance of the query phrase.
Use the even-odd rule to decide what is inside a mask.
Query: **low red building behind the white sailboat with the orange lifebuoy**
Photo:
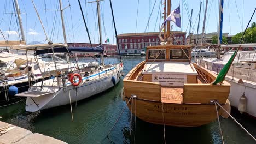
[[[68,43],[69,47],[91,47],[90,43]],[[92,44],[92,47],[99,46],[98,44]],[[103,44],[104,53],[106,55],[116,55],[117,54],[117,45]]]

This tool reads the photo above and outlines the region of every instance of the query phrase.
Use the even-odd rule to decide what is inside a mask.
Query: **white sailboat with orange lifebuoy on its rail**
[[[102,37],[101,37],[101,24],[100,24],[100,3],[97,0],[98,8],[98,22],[100,32],[100,46],[90,49],[69,48],[62,49],[57,48],[56,51],[62,49],[64,52],[98,52],[103,55]],[[60,1],[61,7],[61,1]],[[62,11],[62,10],[61,10]],[[65,29],[63,29],[65,35]],[[32,48],[32,47],[31,47]],[[33,47],[36,53],[43,53],[53,47]],[[62,51],[61,50],[61,51]],[[55,55],[55,50],[52,50]],[[26,111],[39,111],[56,107],[60,105],[66,105],[78,100],[82,100],[92,95],[106,91],[107,89],[116,85],[123,74],[123,63],[104,65],[104,57],[101,56],[102,65],[90,64],[88,67],[79,69],[78,73],[69,73],[67,75],[56,74],[54,79],[49,79],[40,83],[36,83],[31,88],[23,93],[16,94],[19,97],[27,97]],[[56,64],[56,63],[55,63]],[[57,69],[56,69],[57,70]],[[75,79],[78,77],[78,79]]]

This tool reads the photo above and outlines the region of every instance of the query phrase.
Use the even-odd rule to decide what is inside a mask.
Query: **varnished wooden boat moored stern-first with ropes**
[[[191,62],[189,45],[148,46],[146,61],[124,78],[123,100],[136,117],[154,124],[196,127],[217,118],[214,100],[230,110],[230,84]],[[218,107],[218,113],[221,110]],[[224,114],[224,113],[222,113]]]

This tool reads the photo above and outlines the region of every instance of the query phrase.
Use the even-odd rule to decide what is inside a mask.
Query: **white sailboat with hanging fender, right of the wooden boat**
[[[254,10],[255,11],[255,10]],[[250,20],[251,21],[251,20]],[[218,72],[228,62],[226,59],[230,58],[232,53],[226,53],[220,59],[220,47],[240,49],[240,47],[253,46],[254,44],[239,44],[222,46],[222,22],[223,22],[223,0],[219,2],[219,35],[218,35],[218,49],[217,58],[201,59],[197,63],[208,70],[218,74]],[[248,26],[247,26],[248,27]],[[247,28],[246,28],[247,29]],[[246,31],[246,30],[245,30]],[[244,32],[245,33],[245,32]],[[255,46],[255,45],[254,45]],[[226,75],[226,81],[232,86],[230,88],[229,100],[231,106],[236,107],[241,113],[245,112],[252,117],[256,117],[256,67],[255,56],[256,51],[238,52],[237,56]]]

